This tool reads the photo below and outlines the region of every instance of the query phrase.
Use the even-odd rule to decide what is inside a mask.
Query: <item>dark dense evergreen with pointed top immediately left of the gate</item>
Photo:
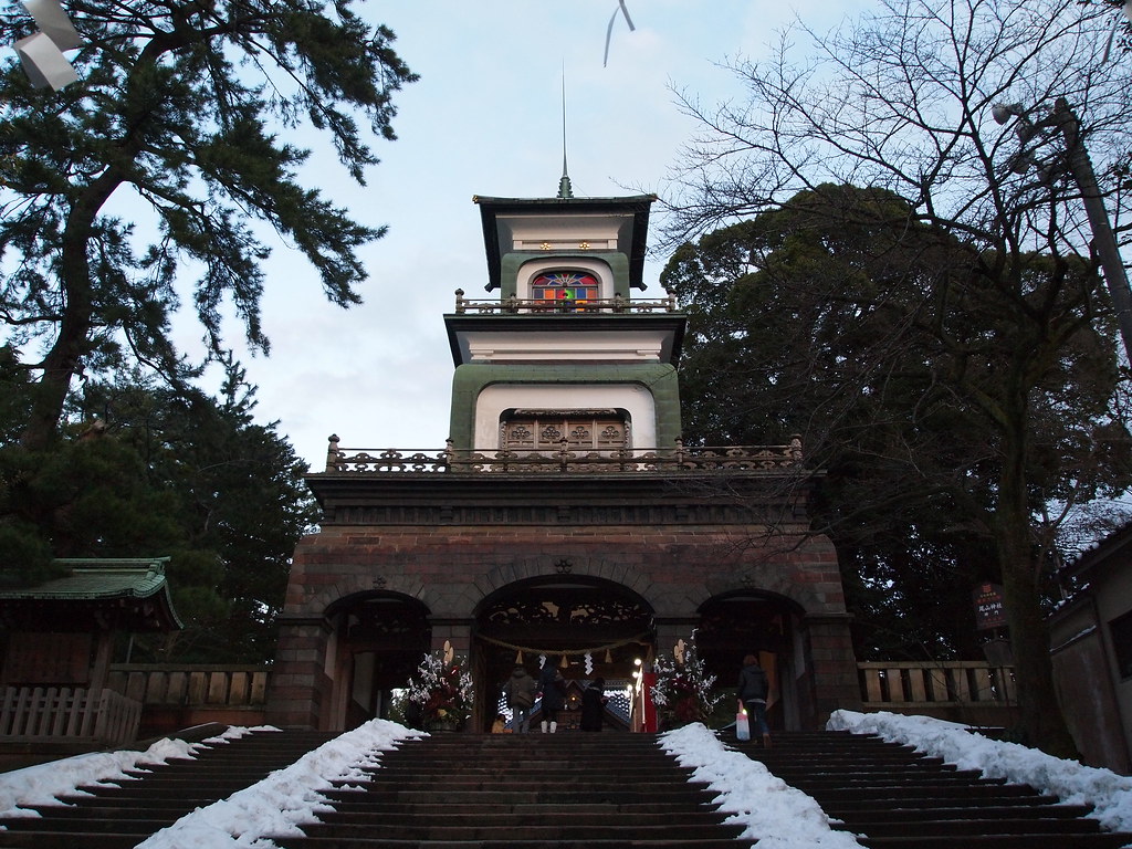
[[[182,544],[170,585],[190,626],[139,644],[155,659],[273,655],[291,556],[318,514],[306,463],[276,423],[252,420],[254,394],[231,360],[218,400],[129,383],[84,393],[84,413],[105,421],[109,435],[144,458],[152,486],[175,499]]]

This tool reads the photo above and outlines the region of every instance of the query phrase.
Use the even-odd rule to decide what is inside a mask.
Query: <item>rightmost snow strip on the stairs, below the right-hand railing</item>
[[[1065,805],[1094,805],[1090,816],[1109,831],[1132,831],[1132,778],[1082,766],[1017,743],[990,740],[966,726],[929,717],[834,711],[830,730],[875,734],[942,757],[984,778],[1004,778],[1061,797]]]

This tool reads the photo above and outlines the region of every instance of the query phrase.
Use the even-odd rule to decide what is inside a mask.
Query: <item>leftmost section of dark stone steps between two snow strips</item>
[[[60,797],[69,807],[35,806],[41,817],[0,820],[0,847],[132,849],[194,808],[256,783],[334,736],[259,731],[226,744],[206,744],[195,758],[170,758],[148,771],[127,772],[138,781],[88,784],[80,789],[89,796]]]

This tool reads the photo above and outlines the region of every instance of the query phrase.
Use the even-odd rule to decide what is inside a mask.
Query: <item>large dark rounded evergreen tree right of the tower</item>
[[[825,470],[815,530],[838,546],[864,657],[972,655],[970,593],[990,580],[1021,614],[1015,663],[1048,661],[1047,507],[1132,472],[1090,264],[1004,258],[892,192],[820,186],[681,247],[662,282],[691,314],[691,435],[800,434]]]

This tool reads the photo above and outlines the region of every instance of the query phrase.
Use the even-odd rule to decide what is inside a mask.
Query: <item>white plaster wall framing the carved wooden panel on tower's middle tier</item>
[[[499,448],[499,417],[512,408],[627,410],[633,447],[657,447],[657,405],[640,384],[491,384],[475,400],[475,451]]]

